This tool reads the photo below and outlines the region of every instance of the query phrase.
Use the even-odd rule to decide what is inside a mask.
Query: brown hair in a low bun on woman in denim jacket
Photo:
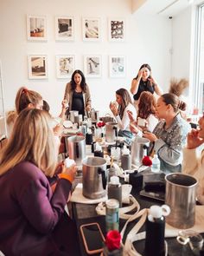
[[[179,109],[186,110],[186,103],[179,100],[177,95],[168,93],[161,96],[163,98],[163,102],[166,105],[171,105],[174,108],[175,113],[178,112]]]

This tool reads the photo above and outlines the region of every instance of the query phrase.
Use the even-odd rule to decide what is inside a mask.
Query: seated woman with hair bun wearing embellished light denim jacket
[[[174,94],[164,94],[159,97],[156,105],[156,115],[159,121],[153,133],[144,133],[149,139],[151,148],[161,161],[161,170],[166,173],[180,172],[182,169],[182,146],[185,144],[190,126],[182,119],[180,109],[186,104]]]

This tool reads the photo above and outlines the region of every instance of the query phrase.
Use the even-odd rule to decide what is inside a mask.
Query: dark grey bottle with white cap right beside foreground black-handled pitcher
[[[108,183],[108,199],[116,199],[122,207],[122,187],[118,176],[112,176]]]

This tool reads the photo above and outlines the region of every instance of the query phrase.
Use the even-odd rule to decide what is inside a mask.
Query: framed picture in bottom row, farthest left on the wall
[[[48,57],[45,55],[28,56],[29,79],[48,78]]]

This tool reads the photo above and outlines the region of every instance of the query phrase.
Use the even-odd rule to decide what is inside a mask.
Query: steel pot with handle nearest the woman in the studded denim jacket
[[[147,149],[150,147],[150,140],[136,137],[131,143],[131,163],[141,166],[143,156],[147,155]]]

